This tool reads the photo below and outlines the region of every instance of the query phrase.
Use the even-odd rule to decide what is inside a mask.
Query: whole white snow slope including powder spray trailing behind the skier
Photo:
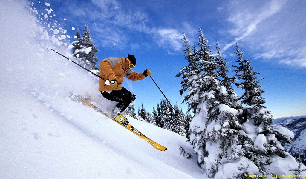
[[[71,100],[89,93],[104,109],[114,105],[102,99],[94,76],[46,48],[71,57],[57,34],[19,2],[2,1],[0,8],[1,178],[205,178],[197,157],[179,155],[179,146],[192,153],[186,138],[129,118],[168,148],[158,151]]]

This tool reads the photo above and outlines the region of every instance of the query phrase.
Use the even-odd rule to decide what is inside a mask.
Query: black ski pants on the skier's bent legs
[[[129,107],[131,102],[136,99],[136,95],[131,93],[124,87],[122,87],[121,90],[113,90],[110,93],[107,93],[106,91],[101,91],[101,94],[108,100],[118,102],[118,104],[116,104],[116,106],[112,110],[112,115],[121,114],[123,111],[125,111],[127,107]]]

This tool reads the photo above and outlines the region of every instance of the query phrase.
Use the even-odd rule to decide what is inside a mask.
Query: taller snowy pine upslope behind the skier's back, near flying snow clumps
[[[99,70],[98,68],[96,68],[96,64],[98,61],[96,53],[98,53],[99,50],[93,44],[93,40],[91,39],[90,31],[87,25],[85,25],[83,37],[80,38],[80,46],[81,49],[79,50],[79,57],[81,59],[81,65],[88,69]]]

